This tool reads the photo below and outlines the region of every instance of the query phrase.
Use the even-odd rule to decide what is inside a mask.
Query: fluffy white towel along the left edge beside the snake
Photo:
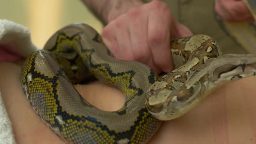
[[[0,20],[0,50],[3,52],[3,49],[13,52],[17,56],[27,57],[31,52],[36,51],[38,48],[31,42],[30,31],[28,28],[13,23],[12,21]],[[3,53],[2,58],[4,58]],[[0,92],[0,144],[15,143],[11,122],[7,115]]]

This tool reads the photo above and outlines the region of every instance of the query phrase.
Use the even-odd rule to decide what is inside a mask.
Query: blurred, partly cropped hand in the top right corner
[[[215,11],[223,20],[253,22],[253,15],[241,0],[215,0]]]

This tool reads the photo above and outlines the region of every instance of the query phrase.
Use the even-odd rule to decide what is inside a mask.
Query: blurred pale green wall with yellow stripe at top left
[[[53,33],[70,23],[86,23],[102,31],[102,24],[81,0],[0,0],[0,19],[28,27],[33,43],[41,48]]]

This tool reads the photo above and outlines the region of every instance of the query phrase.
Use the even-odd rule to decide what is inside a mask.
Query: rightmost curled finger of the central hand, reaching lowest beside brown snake
[[[154,64],[164,72],[173,69],[170,50],[171,14],[160,18],[162,13],[150,13],[148,17],[148,45],[151,48]]]

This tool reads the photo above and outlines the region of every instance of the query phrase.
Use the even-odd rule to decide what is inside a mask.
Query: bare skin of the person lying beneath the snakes
[[[17,144],[64,144],[26,100],[20,84],[21,63],[0,62],[0,91]],[[148,144],[255,144],[255,86],[256,77],[222,86],[188,114],[164,121]],[[101,82],[75,87],[102,110],[115,111],[124,103],[122,92]]]

